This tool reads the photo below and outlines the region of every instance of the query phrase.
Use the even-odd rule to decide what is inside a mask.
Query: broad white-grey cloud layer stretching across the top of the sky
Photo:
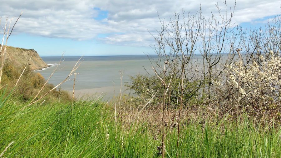
[[[206,16],[217,12],[216,2],[202,0],[202,11]],[[149,46],[153,38],[147,30],[160,28],[158,15],[169,19],[174,12],[195,14],[200,2],[172,0],[0,0],[0,15],[17,17],[24,11],[14,33],[28,33],[37,36],[70,38],[74,40],[96,39],[118,45]],[[223,2],[219,5],[224,10]],[[227,2],[227,9],[233,9],[234,1]],[[254,22],[256,19],[280,14],[280,1],[237,0],[234,21]],[[95,20],[100,8],[108,17]],[[107,37],[97,37],[106,34]]]

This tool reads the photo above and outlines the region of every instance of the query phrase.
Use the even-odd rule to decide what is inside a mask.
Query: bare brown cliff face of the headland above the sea
[[[38,53],[35,50],[7,46],[6,59],[8,61],[12,61],[15,66],[27,64],[31,55],[32,58],[29,62],[29,66],[33,71],[48,67],[48,65],[42,60],[41,57],[39,57]]]

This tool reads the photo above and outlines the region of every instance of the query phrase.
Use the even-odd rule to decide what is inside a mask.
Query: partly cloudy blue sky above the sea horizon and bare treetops
[[[40,56],[153,54],[150,35],[161,19],[175,12],[217,15],[224,1],[210,0],[0,0],[1,25],[6,17],[18,20],[8,45],[36,50]],[[233,21],[242,27],[263,26],[280,15],[279,0],[237,0]],[[234,0],[227,1],[233,10]],[[2,34],[2,26],[0,27]],[[149,33],[150,32],[150,33]]]

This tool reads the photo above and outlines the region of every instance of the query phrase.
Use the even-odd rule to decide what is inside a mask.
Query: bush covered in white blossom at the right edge
[[[240,66],[239,66],[240,65]],[[239,80],[240,73],[240,80]],[[253,109],[274,107],[281,96],[281,58],[279,53],[255,55],[248,64],[243,60],[229,65],[224,81],[214,82],[218,93],[224,93],[224,99],[233,99],[239,104]],[[239,86],[238,86],[239,84]]]

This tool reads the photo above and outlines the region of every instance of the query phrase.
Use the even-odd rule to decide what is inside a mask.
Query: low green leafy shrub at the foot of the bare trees
[[[141,75],[138,74],[135,77],[131,76],[131,82],[125,84],[125,86],[133,90],[133,93],[136,95],[136,101],[138,104],[144,105],[155,95],[153,100],[150,102],[150,106],[159,105],[163,99],[163,85],[161,81],[156,75]],[[180,101],[180,78],[175,76],[166,76],[165,80],[170,81],[169,90],[166,93],[166,101],[165,104],[168,107],[175,108],[177,103]],[[185,105],[187,102],[192,100],[194,97],[197,96],[197,91],[195,91],[195,87],[198,87],[197,82],[187,82],[184,81],[184,94],[183,94],[183,101]]]

